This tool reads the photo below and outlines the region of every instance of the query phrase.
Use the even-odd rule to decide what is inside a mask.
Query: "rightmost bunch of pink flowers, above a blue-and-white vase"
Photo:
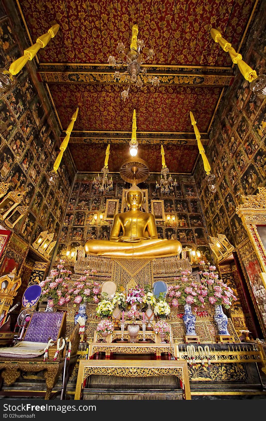
[[[208,301],[213,305],[223,305],[226,309],[232,305],[232,301],[236,301],[237,297],[234,296],[233,290],[228,287],[221,279],[216,271],[216,266],[209,265],[209,267],[200,262],[204,268],[204,272],[198,272],[201,277],[202,289],[207,291],[205,296],[208,297]]]

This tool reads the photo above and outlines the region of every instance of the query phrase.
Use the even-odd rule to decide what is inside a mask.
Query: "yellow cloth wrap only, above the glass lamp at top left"
[[[37,38],[34,45],[24,50],[24,56],[19,57],[19,59],[15,60],[9,67],[11,75],[17,75],[17,73],[21,71],[22,67],[25,66],[26,62],[32,60],[40,48],[44,48],[49,43],[50,39],[55,37],[59,28],[60,26],[58,24],[53,25],[50,29],[48,29],[46,34]]]

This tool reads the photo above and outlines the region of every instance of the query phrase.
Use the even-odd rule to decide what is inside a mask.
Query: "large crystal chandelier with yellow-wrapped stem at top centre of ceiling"
[[[128,97],[129,88],[131,83],[135,83],[137,88],[141,88],[143,83],[145,82],[151,82],[153,85],[157,86],[159,85],[160,81],[157,76],[147,76],[146,75],[146,69],[145,67],[141,67],[141,64],[144,63],[145,60],[150,59],[154,55],[154,51],[152,48],[148,51],[148,55],[145,60],[142,60],[142,54],[141,50],[144,48],[144,42],[143,40],[137,40],[137,34],[138,34],[138,27],[137,25],[134,25],[132,28],[132,38],[131,38],[131,44],[130,44],[130,51],[126,53],[125,46],[122,42],[120,42],[116,48],[116,51],[120,54],[119,59],[116,61],[114,56],[109,56],[108,58],[108,64],[109,66],[116,66],[116,67],[125,67],[126,71],[123,73],[120,73],[116,71],[114,73],[114,78],[120,80],[125,79],[128,81],[128,87],[124,91],[121,92],[122,99],[125,99]],[[125,56],[125,59],[123,57]],[[126,75],[126,77],[123,77],[123,75]]]

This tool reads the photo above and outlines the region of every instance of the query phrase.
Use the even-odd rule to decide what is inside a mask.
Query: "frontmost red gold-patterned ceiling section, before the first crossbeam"
[[[39,53],[45,63],[107,63],[122,40],[130,45],[133,24],[154,48],[153,64],[231,65],[210,36],[220,29],[235,47],[255,0],[19,0],[32,40],[57,21],[60,32]]]

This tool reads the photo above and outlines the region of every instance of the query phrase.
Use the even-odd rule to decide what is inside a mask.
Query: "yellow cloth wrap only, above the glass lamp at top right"
[[[251,67],[242,60],[241,54],[237,53],[232,45],[221,36],[221,32],[217,31],[217,29],[211,28],[211,37],[216,43],[221,45],[221,48],[226,51],[226,53],[229,53],[232,62],[237,64],[240,72],[245,77],[245,80],[252,82],[258,77],[256,71],[251,69]]]

